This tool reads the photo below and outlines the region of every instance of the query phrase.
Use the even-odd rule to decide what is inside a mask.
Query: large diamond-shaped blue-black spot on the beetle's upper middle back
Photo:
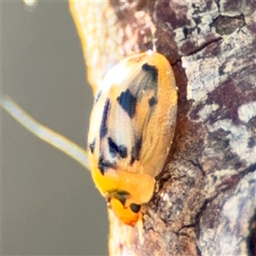
[[[119,105],[125,110],[126,113],[132,119],[135,114],[137,99],[131,94],[129,89],[123,91],[120,96],[117,98]]]

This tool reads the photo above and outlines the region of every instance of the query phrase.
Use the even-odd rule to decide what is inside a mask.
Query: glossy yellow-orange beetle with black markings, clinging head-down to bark
[[[90,116],[88,159],[97,189],[125,224],[142,218],[169,152],[177,87],[169,62],[153,51],[113,67]]]

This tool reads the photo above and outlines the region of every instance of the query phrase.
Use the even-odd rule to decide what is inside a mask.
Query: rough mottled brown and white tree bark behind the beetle
[[[143,242],[110,212],[110,254],[256,255],[256,2],[70,5],[91,84],[154,43],[179,89],[176,135]]]

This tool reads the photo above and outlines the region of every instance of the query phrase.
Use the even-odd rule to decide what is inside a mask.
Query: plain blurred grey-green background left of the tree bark
[[[2,92],[85,147],[92,107],[67,1],[2,2]],[[2,111],[2,255],[108,253],[106,202],[90,173]]]

